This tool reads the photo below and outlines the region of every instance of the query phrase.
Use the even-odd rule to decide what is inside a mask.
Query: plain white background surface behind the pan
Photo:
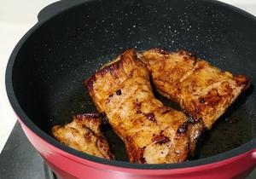
[[[9,55],[20,38],[37,23],[38,12],[55,0],[8,0],[0,5],[0,153],[16,117],[5,91],[4,75]],[[256,0],[222,0],[256,15]]]

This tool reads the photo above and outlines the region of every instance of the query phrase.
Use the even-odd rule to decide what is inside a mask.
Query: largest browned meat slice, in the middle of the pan
[[[126,50],[84,84],[97,109],[106,113],[109,124],[125,142],[131,163],[166,164],[187,159],[187,117],[154,98],[148,70],[134,49]]]

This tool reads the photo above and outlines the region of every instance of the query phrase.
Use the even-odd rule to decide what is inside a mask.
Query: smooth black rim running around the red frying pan
[[[201,0],[205,2],[211,2],[211,3],[218,3],[219,5],[231,9],[233,11],[236,11],[236,13],[239,13],[249,19],[255,20],[256,17],[252,14],[248,14],[246,11],[243,11],[241,9],[238,9],[234,6],[231,6],[227,3],[222,3],[218,1],[212,1],[212,0]],[[84,2],[84,3],[92,3],[93,1]],[[54,16],[50,17],[48,20],[53,19],[56,15],[60,15],[64,12],[67,12],[69,9],[73,9],[76,6],[79,6],[81,3],[69,7],[68,9],[65,9]],[[225,153],[219,153],[217,155],[213,155],[211,157],[207,157],[204,159],[196,159],[188,162],[184,162],[182,164],[163,164],[163,165],[141,165],[141,164],[131,164],[128,162],[123,161],[117,161],[117,160],[108,160],[108,159],[102,159],[98,158],[96,156],[79,152],[71,147],[67,147],[64,144],[61,144],[61,142],[56,141],[54,138],[46,134],[43,130],[40,130],[36,124],[32,122],[28,116],[26,116],[26,113],[23,111],[23,109],[20,107],[19,101],[16,98],[15,91],[13,89],[13,81],[12,81],[12,72],[13,72],[13,66],[15,64],[15,59],[19,55],[20,49],[23,46],[24,43],[26,43],[27,39],[31,37],[33,32],[36,32],[40,26],[43,26],[44,23],[46,23],[48,20],[44,20],[42,22],[38,22],[35,26],[32,26],[32,28],[26,32],[26,34],[20,39],[19,43],[16,44],[15,49],[13,50],[12,54],[9,57],[8,65],[6,67],[6,73],[5,73],[5,86],[6,86],[6,92],[9,98],[9,102],[11,104],[11,107],[13,107],[16,115],[20,118],[20,120],[26,124],[26,126],[32,130],[32,132],[42,138],[44,141],[48,142],[54,147],[57,147],[61,149],[62,151],[65,151],[67,153],[71,153],[76,157],[79,157],[81,159],[90,160],[92,162],[96,162],[103,165],[111,165],[115,167],[123,167],[123,168],[130,168],[130,169],[141,169],[141,170],[170,170],[170,169],[184,169],[189,167],[196,167],[200,165],[209,165],[216,162],[223,161],[225,159],[230,159],[233,157],[236,157],[242,153],[247,153],[250,150],[253,150],[256,146],[256,139],[253,138],[251,141],[248,141],[247,143],[241,145],[240,147],[236,147],[230,151],[227,151]]]

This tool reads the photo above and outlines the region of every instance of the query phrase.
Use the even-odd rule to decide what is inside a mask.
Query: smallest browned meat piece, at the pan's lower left
[[[102,119],[96,113],[73,117],[73,122],[64,126],[55,125],[52,135],[61,143],[84,153],[100,158],[113,159],[108,141],[101,132]]]

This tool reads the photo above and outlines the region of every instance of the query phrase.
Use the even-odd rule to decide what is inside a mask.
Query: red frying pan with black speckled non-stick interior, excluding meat
[[[96,113],[83,86],[99,66],[125,49],[189,50],[252,80],[198,141],[182,164],[129,164],[108,124],[103,130],[116,160],[80,153],[49,134],[78,113]],[[230,178],[255,167],[256,19],[217,1],[60,1],[16,45],[6,70],[9,101],[32,145],[62,178]],[[155,94],[167,106],[171,101]]]

